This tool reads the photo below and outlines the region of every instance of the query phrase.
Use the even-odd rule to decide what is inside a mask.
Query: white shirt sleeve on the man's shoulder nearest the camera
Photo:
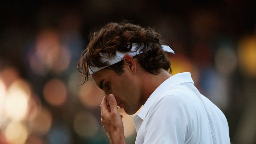
[[[144,144],[184,144],[192,129],[191,111],[177,96],[158,100],[148,113]]]

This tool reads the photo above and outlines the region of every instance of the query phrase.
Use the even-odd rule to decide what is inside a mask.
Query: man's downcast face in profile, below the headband
[[[124,108],[127,114],[136,113],[142,106],[139,83],[135,76],[126,70],[118,75],[113,70],[105,68],[93,74],[92,77],[96,85],[105,92],[107,101],[108,95],[113,94],[117,105]]]

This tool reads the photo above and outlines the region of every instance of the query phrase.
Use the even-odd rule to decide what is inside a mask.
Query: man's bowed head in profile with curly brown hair
[[[157,75],[161,69],[171,71],[169,59],[161,47],[163,42],[160,37],[151,28],[142,28],[127,22],[109,23],[90,34],[90,42],[81,55],[78,70],[85,81],[92,72],[96,85],[106,95],[114,94],[117,104],[121,102],[120,107],[126,113],[133,114],[142,105],[143,80],[140,75]],[[137,44],[136,50],[139,49],[138,55],[125,55],[120,62],[110,66],[109,61],[102,60],[102,57],[116,56],[116,52],[130,52],[134,44]],[[106,68],[95,72],[92,67]]]

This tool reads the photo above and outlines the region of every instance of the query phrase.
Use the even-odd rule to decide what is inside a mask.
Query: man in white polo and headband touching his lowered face
[[[201,95],[189,72],[172,76],[160,34],[127,22],[109,23],[91,33],[78,63],[106,96],[101,122],[110,143],[124,144],[122,115],[134,116],[136,144],[228,144],[228,123]],[[169,72],[168,72],[169,70]]]

